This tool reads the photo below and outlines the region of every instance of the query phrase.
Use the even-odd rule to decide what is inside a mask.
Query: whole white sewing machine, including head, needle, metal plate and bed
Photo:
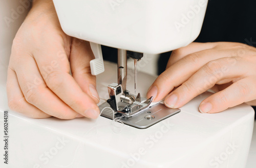
[[[127,55],[135,63],[141,59],[139,64],[147,54],[194,41],[207,1],[54,0],[54,5],[63,31],[91,42],[97,59],[91,71],[97,75],[98,105],[111,109],[103,110],[97,120],[38,120],[9,111],[11,167],[245,167],[254,118],[250,106],[201,114],[200,102],[211,95],[206,92],[180,109],[168,109],[145,99],[156,77],[138,72],[140,94],[133,91],[134,81],[125,77]],[[118,65],[103,63],[100,44],[119,48]],[[2,111],[8,109],[3,83]],[[112,121],[118,116],[124,125]]]

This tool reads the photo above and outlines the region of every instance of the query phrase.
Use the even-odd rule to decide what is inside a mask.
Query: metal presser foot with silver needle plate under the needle
[[[150,107],[153,97],[146,100],[138,93],[135,98],[117,83],[109,85],[108,90],[110,99],[101,104],[99,109],[111,107],[115,111],[114,118],[120,117],[119,121],[126,125],[144,129],[180,112],[180,109],[167,108],[161,103]],[[113,110],[106,108],[101,116],[113,120]]]

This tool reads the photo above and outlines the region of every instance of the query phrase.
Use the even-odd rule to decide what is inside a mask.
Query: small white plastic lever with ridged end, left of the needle
[[[92,75],[98,75],[104,72],[103,57],[101,51],[101,45],[90,42],[95,59],[90,61]]]

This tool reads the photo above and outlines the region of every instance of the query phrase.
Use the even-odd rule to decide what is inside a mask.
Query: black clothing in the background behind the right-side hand
[[[201,33],[195,42],[240,42],[256,46],[256,1],[209,0]],[[161,54],[158,74],[170,52]]]

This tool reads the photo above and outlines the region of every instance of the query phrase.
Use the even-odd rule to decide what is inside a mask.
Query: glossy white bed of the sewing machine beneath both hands
[[[106,87],[116,78],[115,66],[105,62],[106,71],[97,77],[102,102],[109,96]],[[106,75],[109,72],[114,75]],[[155,77],[138,75],[138,89],[145,95]],[[4,85],[1,95],[1,107],[7,107]],[[146,129],[120,127],[104,117],[31,119],[10,111],[9,166],[245,167],[254,111],[242,104],[218,114],[201,114],[198,106],[209,95],[196,97],[180,113]]]

